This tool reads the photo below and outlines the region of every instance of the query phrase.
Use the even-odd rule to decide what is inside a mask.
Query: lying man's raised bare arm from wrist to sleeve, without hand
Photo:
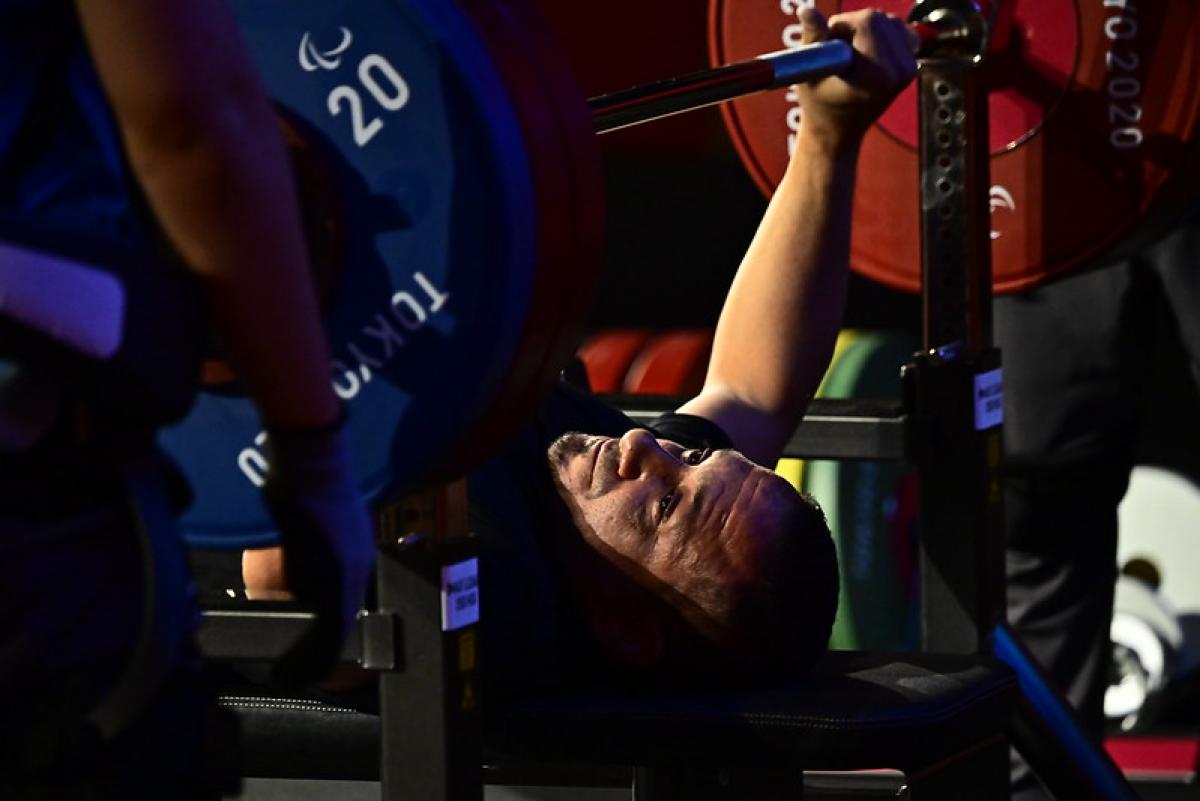
[[[726,297],[704,392],[682,409],[712,416],[716,399],[719,422],[760,462],[774,459],[799,422],[838,337],[857,158],[857,138],[802,128]]]

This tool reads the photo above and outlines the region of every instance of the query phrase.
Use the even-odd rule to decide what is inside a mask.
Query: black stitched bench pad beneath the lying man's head
[[[247,775],[377,775],[376,715],[262,688],[222,694],[242,719]],[[490,758],[515,763],[913,770],[1001,731],[1015,698],[1014,675],[990,658],[845,651],[781,687],[493,704],[486,741]]]

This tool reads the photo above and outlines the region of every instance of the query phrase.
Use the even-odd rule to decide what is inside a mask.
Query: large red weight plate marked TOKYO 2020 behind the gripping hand
[[[709,7],[715,62],[797,43],[797,6]],[[817,0],[824,13],[902,0]],[[1044,283],[1154,227],[1186,197],[1200,126],[1200,6],[1015,0],[1012,32],[990,56],[992,271],[997,291]],[[920,288],[916,94],[905,91],[863,144],[852,266]],[[726,124],[755,181],[784,173],[799,112],[788,92],[740,98]],[[898,203],[911,198],[911,203]]]

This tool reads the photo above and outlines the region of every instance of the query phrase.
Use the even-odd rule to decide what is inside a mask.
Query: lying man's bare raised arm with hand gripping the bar
[[[804,43],[856,49],[845,78],[800,85],[787,170],[730,288],[704,387],[679,411],[707,417],[770,464],[804,414],[841,326],[850,218],[863,135],[916,72],[910,34],[878,12],[802,12]]]

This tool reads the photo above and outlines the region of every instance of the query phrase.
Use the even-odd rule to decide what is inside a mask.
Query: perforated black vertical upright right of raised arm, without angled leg
[[[920,469],[923,646],[960,654],[988,650],[1004,606],[982,44],[941,48],[918,72],[924,350],[904,372]]]

